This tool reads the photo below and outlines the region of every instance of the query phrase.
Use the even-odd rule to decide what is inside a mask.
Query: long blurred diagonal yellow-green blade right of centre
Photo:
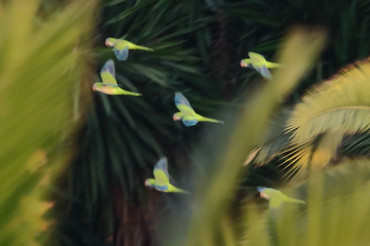
[[[229,129],[229,137],[222,147],[218,146],[221,148],[218,158],[206,160],[198,156],[199,159],[195,160],[199,166],[213,171],[205,177],[198,177],[202,177],[202,180],[196,186],[197,209],[194,209],[189,224],[188,241],[176,242],[176,245],[204,245],[201,240],[203,233],[218,230],[216,228],[219,228],[220,217],[225,214],[235,191],[245,156],[262,140],[262,131],[273,110],[283,102],[283,98],[289,95],[301,76],[312,66],[324,41],[325,33],[322,30],[293,29],[279,52],[279,62],[286,64],[286,67],[273,73],[272,80],[263,81],[266,83],[264,88],[250,101],[250,106],[240,113],[233,129]],[[169,244],[173,245],[174,242]]]

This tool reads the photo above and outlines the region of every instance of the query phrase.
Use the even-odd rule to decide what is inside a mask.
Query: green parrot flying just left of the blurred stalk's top
[[[263,76],[265,79],[271,79],[271,74],[268,68],[276,68],[282,66],[282,64],[272,63],[266,61],[265,57],[255,52],[248,52],[250,59],[243,59],[240,61],[240,66],[247,68],[252,65],[256,71]]]

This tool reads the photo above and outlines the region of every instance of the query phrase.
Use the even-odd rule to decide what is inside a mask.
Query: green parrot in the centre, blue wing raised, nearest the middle
[[[175,93],[175,105],[180,110],[180,112],[174,113],[173,119],[182,120],[182,123],[184,123],[185,126],[194,126],[199,121],[223,124],[221,120],[203,117],[195,113],[192,107],[190,106],[188,99],[186,99],[181,92]]]

